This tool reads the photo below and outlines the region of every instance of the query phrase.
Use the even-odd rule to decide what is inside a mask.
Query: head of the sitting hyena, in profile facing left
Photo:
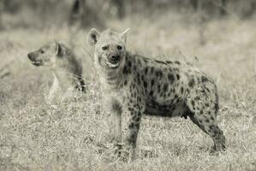
[[[53,67],[56,65],[57,58],[63,56],[62,45],[54,42],[46,44],[39,50],[35,50],[27,54],[27,57],[33,63],[33,65]]]

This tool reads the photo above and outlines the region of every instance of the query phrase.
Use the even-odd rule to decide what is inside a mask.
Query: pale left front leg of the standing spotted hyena
[[[108,117],[109,140],[114,143],[122,142],[122,105],[116,100],[109,103],[110,115]]]

